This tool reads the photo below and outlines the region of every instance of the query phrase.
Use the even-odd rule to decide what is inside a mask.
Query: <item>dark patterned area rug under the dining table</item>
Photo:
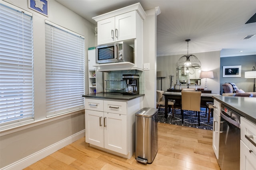
[[[174,117],[172,113],[168,113],[168,118],[166,119],[164,118],[164,108],[160,108],[158,111],[158,122],[212,131],[213,117],[210,117],[210,122],[208,122],[208,113],[207,117],[205,117],[205,108],[202,109],[204,110],[200,111],[200,126],[198,126],[198,116],[196,116],[196,113],[188,110],[184,110],[184,123],[182,124],[180,109],[176,109]]]

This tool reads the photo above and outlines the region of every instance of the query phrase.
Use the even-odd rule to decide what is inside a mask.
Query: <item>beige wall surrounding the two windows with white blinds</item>
[[[1,1],[2,2],[2,1]],[[85,37],[85,63],[87,65],[87,49],[94,46],[94,25],[54,0],[48,0],[48,17],[43,16],[28,8],[28,0],[6,0],[10,4],[18,6],[33,14],[34,33],[34,110],[35,121],[20,127],[6,129],[0,134],[0,168],[10,168],[14,162],[23,161],[24,158],[36,152],[44,150],[46,147],[61,143],[72,135],[83,132],[84,109],[69,113],[65,116],[46,118],[45,104],[45,20],[56,23],[66,29],[70,29]],[[85,80],[88,80],[88,72],[85,73]],[[88,83],[86,84],[86,94],[88,93]],[[82,97],[82,96],[81,96]],[[84,135],[84,133],[82,134]],[[72,140],[71,140],[72,141]],[[68,144],[68,143],[66,143]],[[54,151],[54,149],[52,149]],[[35,159],[39,158],[36,156]],[[34,160],[30,160],[33,163]],[[19,164],[17,163],[16,164]],[[16,166],[21,169],[28,166],[26,163]],[[17,168],[18,167],[18,168]],[[24,168],[24,167],[23,167]]]

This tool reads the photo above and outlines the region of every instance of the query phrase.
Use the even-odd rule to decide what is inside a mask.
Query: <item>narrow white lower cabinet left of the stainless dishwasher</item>
[[[214,100],[213,109],[213,132],[212,132],[212,149],[219,158],[219,143],[220,143],[220,102]]]

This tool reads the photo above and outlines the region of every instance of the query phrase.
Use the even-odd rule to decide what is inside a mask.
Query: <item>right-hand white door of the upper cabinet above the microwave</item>
[[[114,31],[115,41],[136,38],[136,11],[116,16]]]

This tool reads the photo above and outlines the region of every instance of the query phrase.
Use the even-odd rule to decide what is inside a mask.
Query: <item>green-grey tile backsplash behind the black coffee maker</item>
[[[115,80],[115,81],[110,83],[110,82],[105,80],[107,82],[106,83],[106,86],[107,86],[106,88],[109,88],[109,86],[111,86],[111,88],[118,89],[121,86],[126,86],[125,82],[116,81],[116,80],[122,80],[122,75],[123,74],[138,74],[140,76],[140,78],[139,78],[140,94],[144,94],[144,92],[145,92],[145,73],[143,71],[140,71],[140,70],[118,70],[118,71],[108,72],[107,75],[106,75],[106,80]],[[106,91],[106,92],[108,92],[108,91]]]

